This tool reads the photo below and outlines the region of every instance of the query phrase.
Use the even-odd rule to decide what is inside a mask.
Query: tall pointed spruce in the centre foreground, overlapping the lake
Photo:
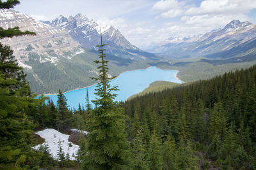
[[[99,58],[95,60],[100,64],[99,81],[95,94],[98,96],[93,103],[95,109],[88,118],[88,138],[86,154],[83,157],[83,169],[130,169],[130,153],[125,134],[124,110],[114,101],[117,87],[111,87],[109,81],[115,77],[108,76],[108,60],[105,60],[100,35]]]

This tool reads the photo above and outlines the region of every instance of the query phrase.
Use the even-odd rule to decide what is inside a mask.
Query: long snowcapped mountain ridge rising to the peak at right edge
[[[148,49],[170,57],[198,57],[222,52],[256,37],[256,25],[232,20],[223,29],[182,38],[168,38]]]

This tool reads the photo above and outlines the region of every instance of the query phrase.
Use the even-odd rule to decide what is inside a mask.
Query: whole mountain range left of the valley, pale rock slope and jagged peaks
[[[20,27],[36,32],[36,36],[4,38],[0,42],[12,46],[19,66],[24,67],[31,90],[37,94],[72,90],[92,85],[90,77],[97,76],[99,25],[79,14],[59,17],[48,24],[37,22],[15,10],[0,10],[0,27]],[[102,27],[104,43],[109,43],[110,73],[149,66],[145,64],[156,55],[131,45],[113,27]],[[140,64],[141,61],[143,64]],[[138,64],[139,63],[139,64]]]

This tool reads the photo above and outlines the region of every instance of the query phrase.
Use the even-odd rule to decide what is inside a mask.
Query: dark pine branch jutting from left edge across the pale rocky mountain
[[[13,36],[23,36],[23,35],[36,35],[36,33],[31,31],[22,32],[19,30],[19,27],[8,28],[8,29],[3,29],[3,27],[0,27],[0,39],[4,37],[12,38]]]

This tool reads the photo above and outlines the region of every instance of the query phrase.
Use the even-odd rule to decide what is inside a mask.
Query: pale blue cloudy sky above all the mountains
[[[36,20],[81,13],[113,25],[133,45],[204,34],[231,20],[256,23],[256,0],[20,0],[14,10]]]

